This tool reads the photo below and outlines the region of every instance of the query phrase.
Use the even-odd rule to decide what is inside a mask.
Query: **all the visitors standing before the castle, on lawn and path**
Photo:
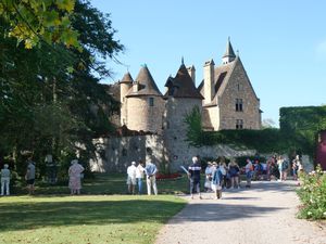
[[[293,180],[298,180],[298,176],[303,171],[303,166],[300,156],[297,155],[293,160],[289,162],[288,158],[274,155],[265,163],[259,158],[251,160],[247,158],[246,166],[240,167],[235,159],[226,164],[225,159],[218,158],[216,162],[208,162],[206,167],[203,168],[199,156],[192,157],[192,163],[188,169],[183,167],[187,172],[190,185],[190,196],[193,198],[193,193],[199,194],[201,198],[200,177],[204,172],[204,191],[214,192],[215,198],[222,197],[223,189],[240,189],[240,175],[246,177],[246,188],[251,188],[252,180],[278,180],[286,181],[288,172],[291,172]],[[85,168],[78,163],[78,159],[73,159],[68,168],[68,188],[71,194],[80,194],[82,179]],[[142,160],[131,162],[127,168],[127,190],[129,194],[143,194],[143,185],[146,181],[147,194],[152,193],[158,195],[156,185],[156,166],[149,162],[145,165]],[[1,169],[1,195],[10,195],[10,178],[11,171],[9,165],[4,164]],[[32,157],[27,159],[27,167],[25,180],[27,190],[30,195],[35,191],[36,168]],[[137,187],[137,190],[136,190]]]

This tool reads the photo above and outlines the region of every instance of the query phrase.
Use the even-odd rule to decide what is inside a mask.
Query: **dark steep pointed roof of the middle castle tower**
[[[185,64],[180,65],[174,78],[171,76],[167,78],[165,87],[168,89],[164,94],[165,97],[203,99],[200,92],[196,89],[193,80],[189,76]]]

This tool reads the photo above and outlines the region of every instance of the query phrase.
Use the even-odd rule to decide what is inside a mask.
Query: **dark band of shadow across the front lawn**
[[[166,222],[185,203],[155,200],[1,203],[0,232],[43,227]]]

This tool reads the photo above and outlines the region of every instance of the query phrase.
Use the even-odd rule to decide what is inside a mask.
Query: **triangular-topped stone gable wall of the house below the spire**
[[[236,112],[236,99],[242,99],[242,112]],[[218,129],[236,129],[237,119],[243,120],[243,129],[261,129],[260,101],[240,61],[237,62],[220,102]]]

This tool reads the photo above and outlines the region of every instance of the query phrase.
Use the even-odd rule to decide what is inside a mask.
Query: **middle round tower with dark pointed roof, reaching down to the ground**
[[[176,76],[168,77],[165,87],[166,110],[164,114],[164,143],[171,163],[171,169],[178,169],[179,164],[191,162],[193,155],[187,153],[187,125],[185,118],[195,107],[202,111],[203,97],[195,85],[195,74],[191,78],[184,63],[179,67]]]

